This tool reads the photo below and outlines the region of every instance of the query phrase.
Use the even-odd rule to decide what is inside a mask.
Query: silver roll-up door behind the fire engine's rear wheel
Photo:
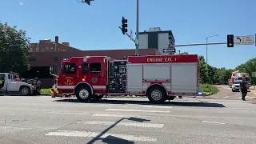
[[[171,92],[194,94],[198,91],[197,63],[171,64]]]

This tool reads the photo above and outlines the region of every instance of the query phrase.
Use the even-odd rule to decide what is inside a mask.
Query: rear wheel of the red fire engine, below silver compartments
[[[162,103],[166,101],[166,90],[161,86],[153,86],[147,93],[147,98],[153,103]]]

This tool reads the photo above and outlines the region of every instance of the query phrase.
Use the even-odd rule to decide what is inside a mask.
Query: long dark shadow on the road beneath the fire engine
[[[54,100],[54,102],[79,102],[76,98],[62,98],[58,100]],[[103,103],[103,104],[137,104],[137,105],[154,105],[154,106],[198,106],[198,107],[226,107],[219,103],[211,103],[211,102],[163,102],[162,104],[154,104],[148,101],[133,101],[133,100],[110,100],[110,99],[102,99],[98,102],[81,102],[81,103]]]

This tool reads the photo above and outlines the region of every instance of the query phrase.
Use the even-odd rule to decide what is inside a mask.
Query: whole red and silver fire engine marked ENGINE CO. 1
[[[61,62],[57,89],[59,94],[74,94],[82,102],[103,95],[141,95],[161,103],[176,96],[202,95],[199,70],[196,54],[130,56],[127,60],[72,57]]]

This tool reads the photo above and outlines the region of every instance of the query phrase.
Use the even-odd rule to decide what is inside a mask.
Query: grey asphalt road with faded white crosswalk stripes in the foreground
[[[256,104],[182,98],[151,105],[145,98],[0,97],[1,144],[255,143]]]

